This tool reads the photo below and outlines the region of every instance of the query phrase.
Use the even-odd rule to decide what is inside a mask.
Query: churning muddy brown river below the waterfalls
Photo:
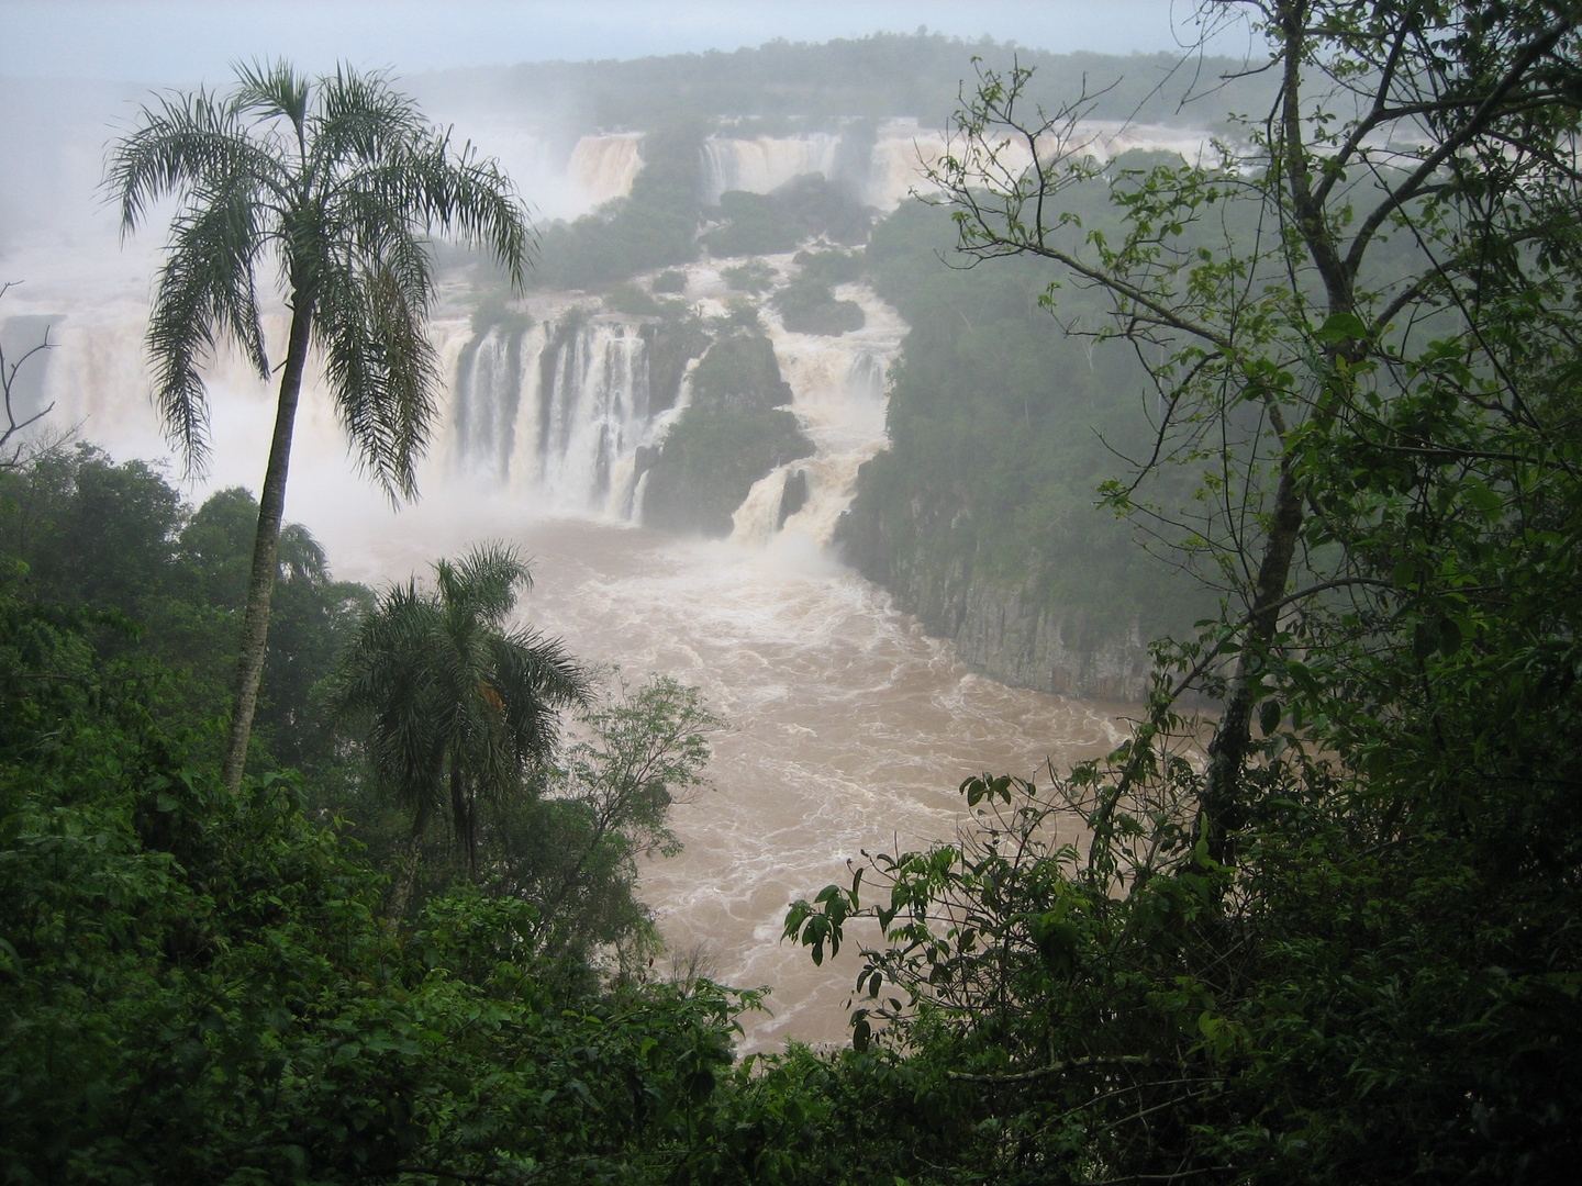
[[[326,531],[346,576],[405,574],[457,549],[459,509],[438,503],[384,528]],[[712,791],[672,811],[680,856],[649,860],[642,897],[672,961],[699,954],[718,980],[769,985],[744,1048],[838,1042],[859,960],[815,968],[780,941],[788,903],[850,881],[848,859],[952,838],[956,788],[992,770],[1036,776],[1120,740],[1125,705],[1076,702],[973,675],[889,596],[816,547],[685,541],[577,519],[535,522],[476,500],[470,538],[533,557],[528,620],[584,659],[636,682],[674,675],[728,721],[712,738]],[[661,961],[657,969],[668,971]]]

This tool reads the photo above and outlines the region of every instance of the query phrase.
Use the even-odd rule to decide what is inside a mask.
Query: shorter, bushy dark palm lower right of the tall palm
[[[476,871],[478,805],[517,792],[557,740],[557,710],[587,702],[562,645],[506,620],[532,587],[514,549],[483,546],[380,595],[342,656],[331,701],[362,727],[378,788],[413,838],[449,813]]]

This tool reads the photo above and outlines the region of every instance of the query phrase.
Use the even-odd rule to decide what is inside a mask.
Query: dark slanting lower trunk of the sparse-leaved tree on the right
[[[1209,859],[1221,865],[1234,857],[1232,835],[1245,822],[1240,783],[1253,735],[1253,707],[1262,691],[1269,640],[1280,625],[1280,601],[1291,577],[1291,560],[1296,557],[1302,519],[1302,495],[1288,457],[1280,466],[1274,517],[1258,566],[1247,634],[1236,661],[1236,674],[1231,677],[1231,694],[1213,731],[1213,740],[1209,742],[1209,770],[1198,808],[1198,837],[1207,838]]]

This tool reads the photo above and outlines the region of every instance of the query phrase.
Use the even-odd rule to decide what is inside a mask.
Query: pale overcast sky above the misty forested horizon
[[[0,0],[0,74],[223,84],[231,62],[255,57],[283,55],[308,71],[345,60],[414,73],[919,25],[1128,54],[1190,43],[1194,11],[1194,0]]]

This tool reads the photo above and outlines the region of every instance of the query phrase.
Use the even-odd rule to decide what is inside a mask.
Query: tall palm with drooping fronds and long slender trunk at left
[[[258,277],[278,269],[291,312],[236,669],[225,780],[237,791],[269,633],[291,430],[310,348],[361,465],[392,501],[414,493],[435,416],[438,364],[427,234],[487,248],[520,285],[532,231],[494,160],[454,150],[381,74],[316,81],[285,62],[239,66],[236,89],[171,93],[111,149],[106,190],[122,234],[176,196],[149,321],[153,400],[190,473],[209,454],[201,362],[233,342],[269,378]]]

